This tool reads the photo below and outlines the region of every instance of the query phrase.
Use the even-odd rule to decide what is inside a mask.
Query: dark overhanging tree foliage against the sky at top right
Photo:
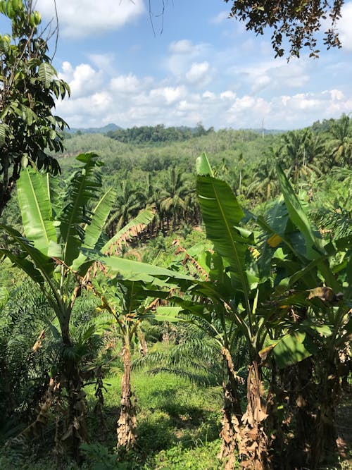
[[[344,0],[319,1],[248,1],[225,0],[232,4],[230,18],[246,22],[246,30],[263,35],[266,27],[272,31],[272,48],[275,57],[284,55],[283,42],[289,42],[291,56],[299,57],[301,49],[308,47],[310,56],[318,57],[316,34],[322,20],[329,16],[330,26],[325,31],[324,44],[327,49],[341,47],[339,34],[336,30],[337,20],[341,16]]]

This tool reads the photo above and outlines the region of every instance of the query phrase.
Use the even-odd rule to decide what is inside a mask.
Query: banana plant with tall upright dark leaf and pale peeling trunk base
[[[203,316],[213,324],[216,321],[229,377],[228,383],[224,383],[220,457],[226,458],[226,468],[232,469],[238,448],[244,465],[266,468],[269,465],[264,430],[267,411],[259,352],[268,330],[260,307],[272,294],[272,273],[261,276],[256,233],[244,228],[243,209],[227,183],[213,178],[205,154],[197,160],[197,173],[199,205],[214,251],[208,254],[209,280],[200,283],[194,292],[210,299]],[[244,338],[249,352],[248,405],[244,414],[239,404],[239,380],[233,368],[233,345],[239,337]]]

